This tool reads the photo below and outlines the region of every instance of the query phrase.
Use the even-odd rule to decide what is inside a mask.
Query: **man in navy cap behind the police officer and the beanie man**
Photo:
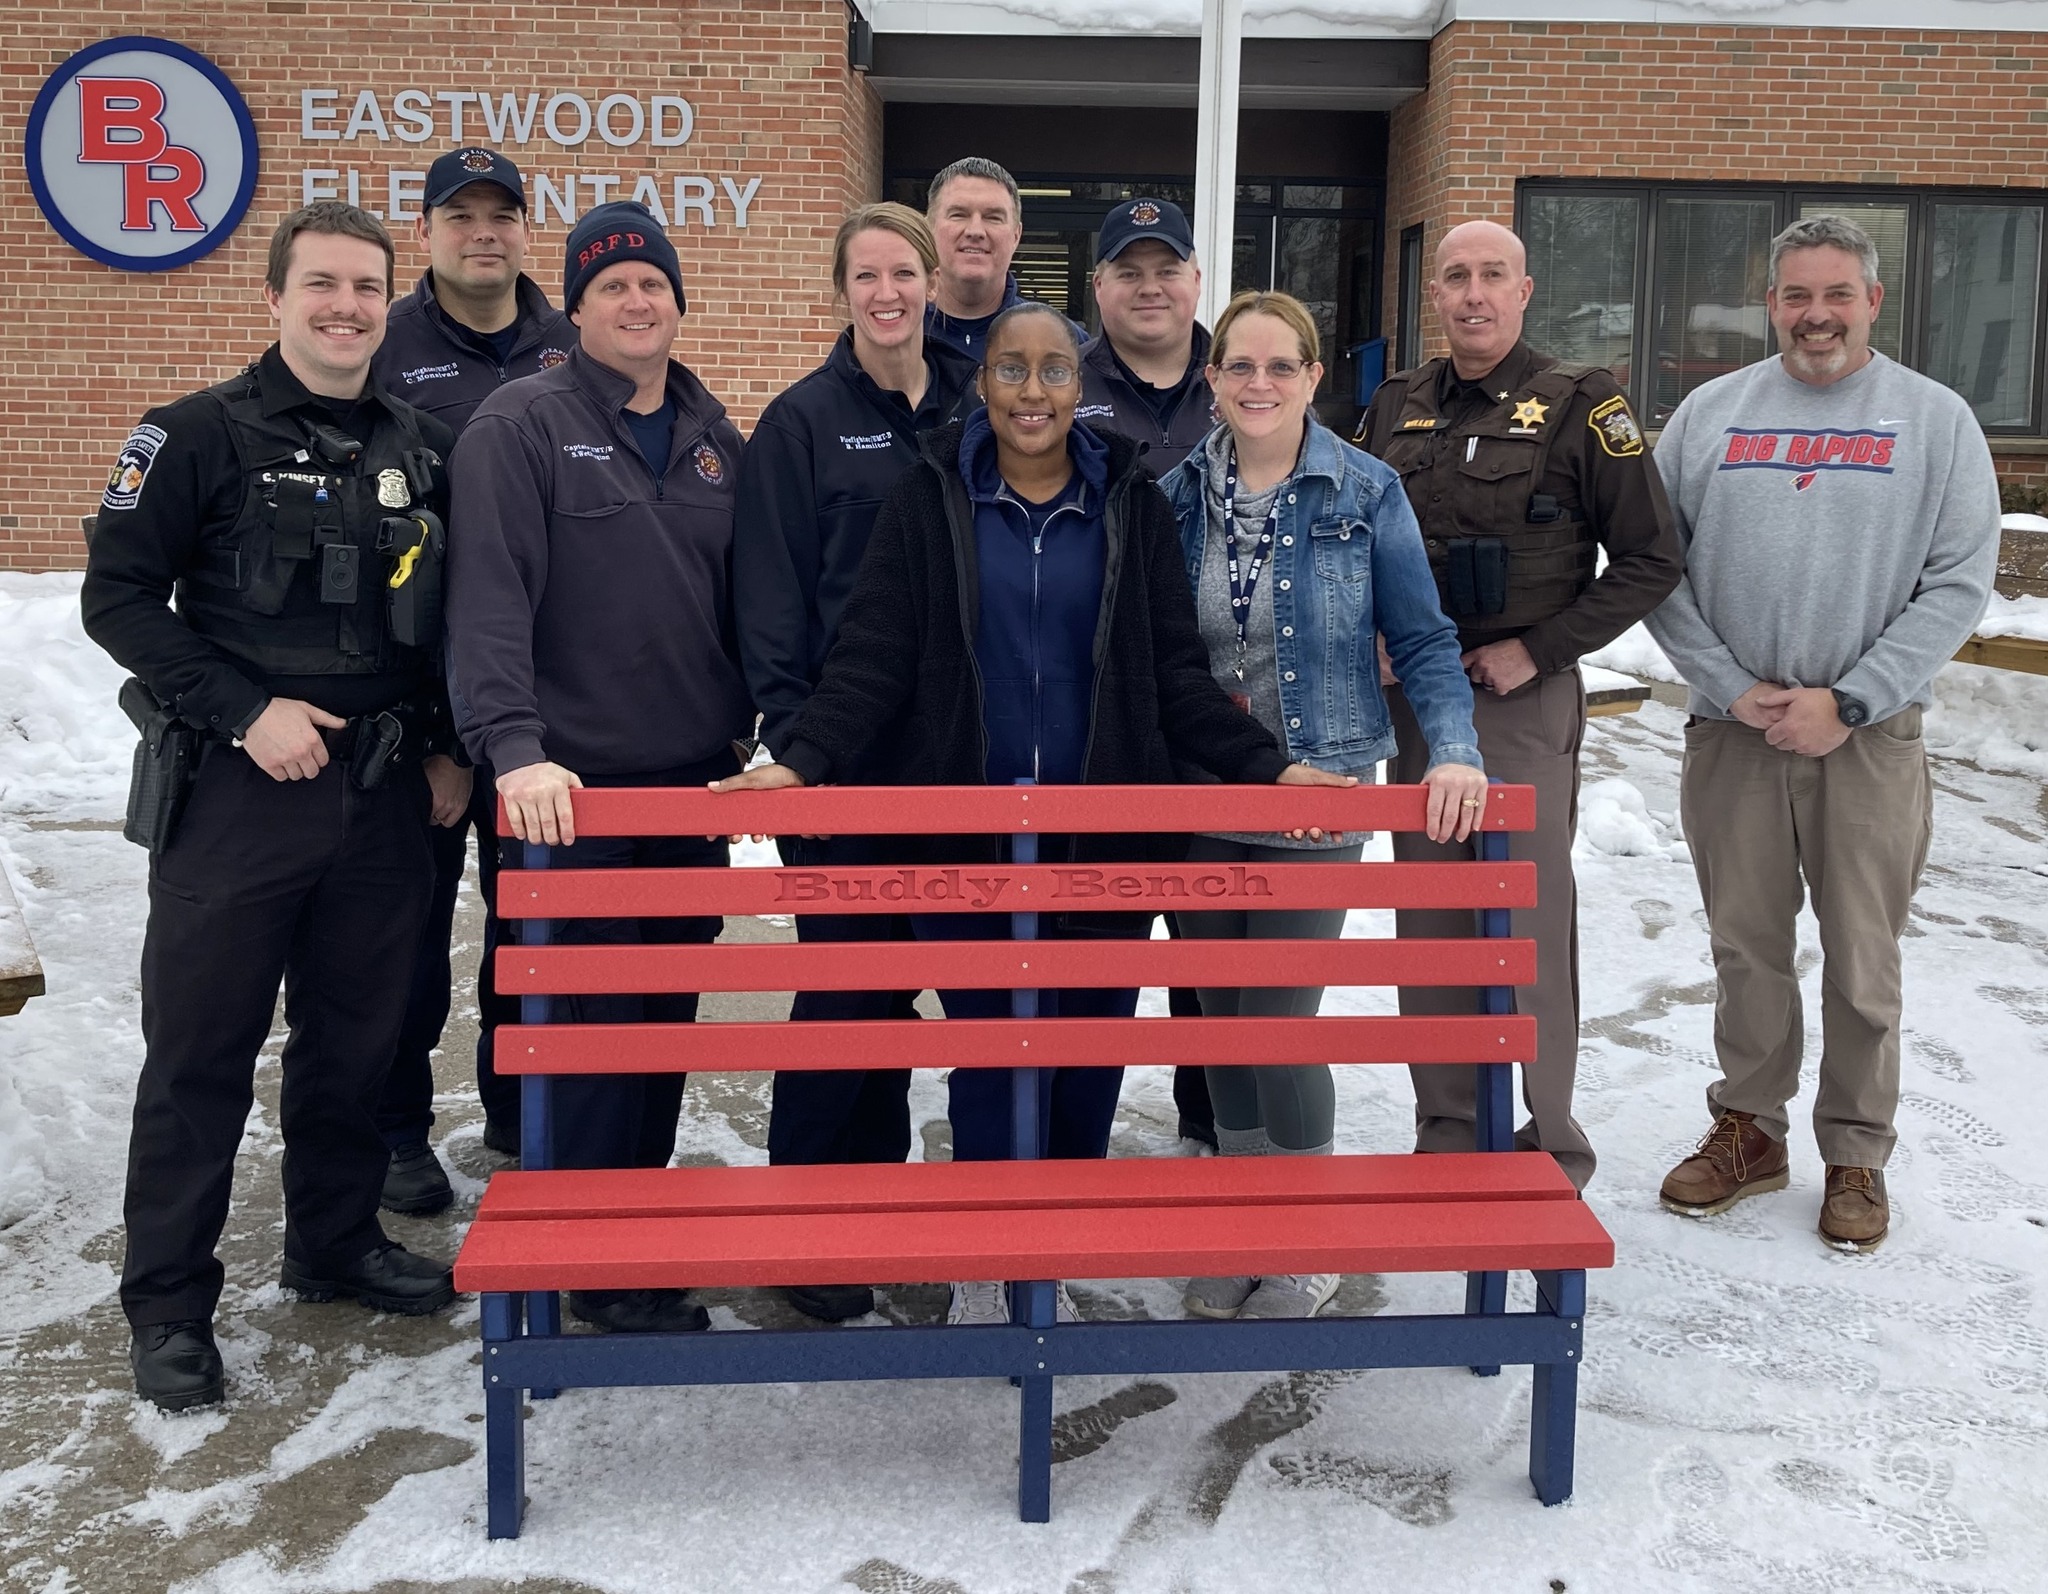
[[[526,182],[496,150],[469,145],[440,156],[426,172],[418,238],[432,264],[420,285],[391,307],[391,326],[371,367],[377,381],[408,404],[444,420],[461,436],[471,412],[514,377],[561,365],[575,348],[575,328],[524,270]],[[383,1207],[391,1213],[438,1213],[455,1192],[426,1131],[434,1123],[434,1063],[449,1020],[449,936],[455,897],[475,826],[477,877],[483,887],[483,957],[477,963],[477,1094],[483,1143],[518,1156],[518,1082],[492,1069],[498,1024],[518,1022],[518,1002],[498,996],[492,953],[498,947],[498,803],[489,779],[471,781],[467,762],[428,766],[434,779],[434,899],[420,934],[412,998],[397,1057],[377,1104],[377,1127],[391,1147]]]

